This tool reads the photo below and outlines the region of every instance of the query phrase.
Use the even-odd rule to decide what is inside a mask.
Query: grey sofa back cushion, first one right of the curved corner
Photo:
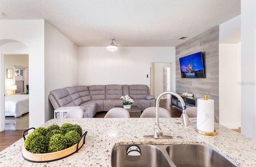
[[[105,99],[105,87],[106,85],[90,85],[88,86],[92,100]]]

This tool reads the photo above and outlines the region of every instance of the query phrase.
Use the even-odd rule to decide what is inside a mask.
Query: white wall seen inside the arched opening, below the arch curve
[[[240,44],[240,43],[239,43]],[[219,45],[219,123],[230,129],[240,127],[241,94],[239,44]]]

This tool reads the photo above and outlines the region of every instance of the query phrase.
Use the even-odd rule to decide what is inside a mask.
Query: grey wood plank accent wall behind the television
[[[180,57],[202,52],[206,78],[181,78]],[[214,114],[219,122],[219,26],[176,46],[176,92],[191,92],[196,97],[214,100]]]

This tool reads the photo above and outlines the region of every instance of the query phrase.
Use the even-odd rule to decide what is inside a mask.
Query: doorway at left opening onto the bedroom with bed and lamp
[[[28,54],[4,54],[4,69],[12,69],[4,75],[5,130],[29,128],[29,68]]]

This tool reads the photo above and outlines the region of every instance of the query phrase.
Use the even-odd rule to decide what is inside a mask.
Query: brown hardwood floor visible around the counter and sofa
[[[160,100],[159,107],[166,108],[172,117],[180,117],[182,111],[178,108],[170,106],[170,99],[162,99]],[[98,112],[94,116],[94,118],[103,118],[106,115],[106,111]],[[241,128],[235,130],[236,132],[241,133]],[[17,140],[22,138],[23,130],[5,130],[0,132],[0,151],[15,143]],[[27,134],[27,132],[26,132]]]

